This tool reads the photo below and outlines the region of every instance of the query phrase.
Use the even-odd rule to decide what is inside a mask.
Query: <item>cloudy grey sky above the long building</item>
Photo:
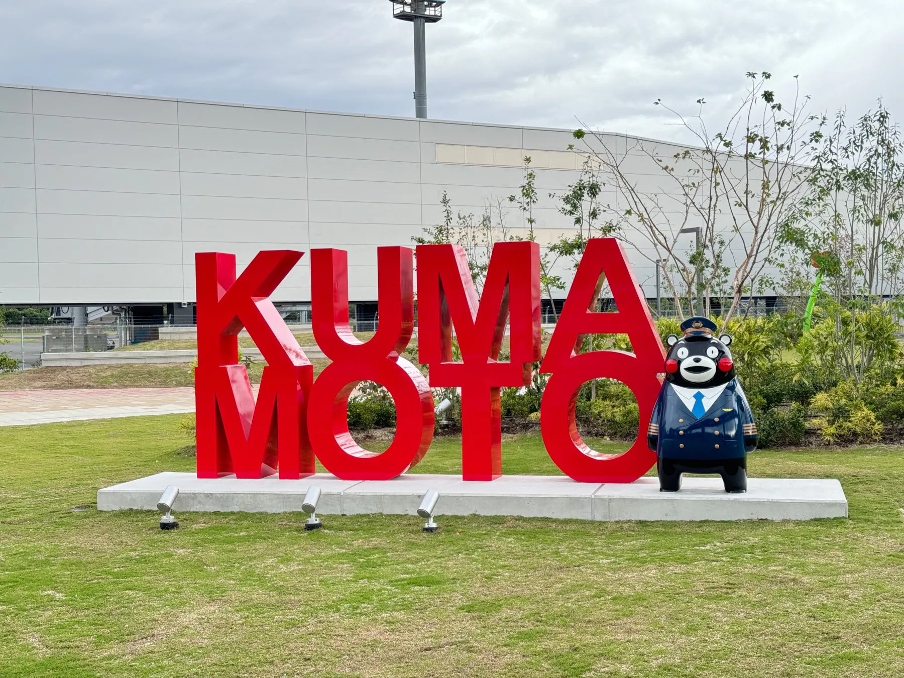
[[[448,0],[428,25],[430,118],[679,131],[746,71],[817,112],[904,115],[900,0]],[[411,24],[388,0],[0,0],[0,81],[413,115]]]

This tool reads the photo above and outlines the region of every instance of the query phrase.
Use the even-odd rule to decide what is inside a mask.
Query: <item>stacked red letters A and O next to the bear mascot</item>
[[[617,313],[595,313],[605,274]],[[584,334],[627,334],[635,353],[593,351],[576,355]],[[617,379],[634,391],[640,431],[646,431],[661,380],[665,353],[645,297],[625,250],[614,238],[589,240],[571,284],[541,372],[553,372],[543,391],[540,425],[543,444],[560,469],[584,483],[632,483],[656,462],[638,432],[634,445],[620,455],[604,455],[581,440],[574,410],[580,386],[589,379]]]

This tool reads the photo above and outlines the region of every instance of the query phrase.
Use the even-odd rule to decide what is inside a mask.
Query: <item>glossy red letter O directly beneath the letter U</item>
[[[396,406],[396,435],[382,453],[360,447],[348,430],[348,399],[360,381],[376,381]],[[417,464],[433,440],[433,396],[427,380],[404,358],[330,363],[317,376],[307,404],[316,457],[343,480],[389,480]]]

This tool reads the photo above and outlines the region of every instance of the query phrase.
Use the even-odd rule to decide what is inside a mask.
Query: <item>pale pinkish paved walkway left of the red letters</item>
[[[0,391],[0,426],[194,411],[194,389]]]

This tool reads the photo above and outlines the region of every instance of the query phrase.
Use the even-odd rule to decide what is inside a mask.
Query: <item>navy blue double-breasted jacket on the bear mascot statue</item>
[[[725,385],[700,419],[665,381],[650,419],[647,444],[659,457],[672,459],[732,459],[752,452],[757,447],[757,425],[738,378]]]

